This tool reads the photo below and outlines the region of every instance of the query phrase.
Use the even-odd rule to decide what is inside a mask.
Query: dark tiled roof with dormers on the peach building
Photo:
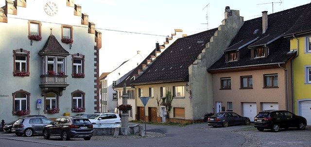
[[[306,4],[268,15],[268,29],[265,33],[262,33],[262,17],[245,21],[232,43],[225,50],[226,53],[240,47],[240,59],[238,61],[225,62],[224,54],[221,59],[216,61],[207,70],[212,71],[286,62],[295,52],[290,52],[290,40],[282,36],[289,30],[296,28],[295,25],[301,24],[298,21],[300,21],[302,16],[306,15],[305,12],[306,10],[310,10],[310,7],[311,4]],[[307,27],[306,29],[308,28],[311,27]],[[254,33],[255,30],[257,30],[257,33]],[[256,41],[245,45],[247,41],[251,41],[257,37],[258,39]],[[251,59],[250,48],[264,45],[269,47],[269,55],[265,58]]]

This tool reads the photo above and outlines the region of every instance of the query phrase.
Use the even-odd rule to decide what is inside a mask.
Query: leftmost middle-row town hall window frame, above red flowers
[[[29,72],[29,64],[30,64],[30,51],[27,51],[27,50],[24,50],[24,49],[17,49],[17,50],[13,50],[13,75],[14,73],[16,73],[16,63],[17,63],[17,59],[16,57],[17,56],[25,56],[26,57],[26,69],[25,69],[25,72],[28,73],[26,74],[25,76],[29,76],[30,75],[30,72]],[[22,69],[19,69],[19,71],[22,71]]]

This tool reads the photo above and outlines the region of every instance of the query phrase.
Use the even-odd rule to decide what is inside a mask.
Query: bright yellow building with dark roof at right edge
[[[307,119],[311,125],[311,4],[300,7],[301,15],[284,37],[290,39],[290,49],[297,52],[292,61],[294,113]]]

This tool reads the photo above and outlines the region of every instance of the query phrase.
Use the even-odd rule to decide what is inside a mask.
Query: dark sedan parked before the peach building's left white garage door
[[[220,112],[207,118],[207,125],[213,127],[228,127],[229,125],[250,124],[250,119],[234,112]]]

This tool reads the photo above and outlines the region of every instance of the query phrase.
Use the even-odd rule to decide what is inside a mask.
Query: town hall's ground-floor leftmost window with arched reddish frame
[[[19,90],[13,94],[13,115],[16,115],[17,111],[24,111],[25,115],[29,114],[29,97],[30,93],[24,90]]]

